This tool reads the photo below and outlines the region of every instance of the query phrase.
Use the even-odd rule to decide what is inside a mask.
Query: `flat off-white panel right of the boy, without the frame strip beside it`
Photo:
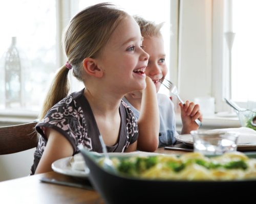
[[[212,0],[180,0],[177,87],[183,100],[212,91]]]

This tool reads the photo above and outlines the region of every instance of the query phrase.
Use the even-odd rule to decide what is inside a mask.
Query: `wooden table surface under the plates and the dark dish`
[[[161,154],[185,153],[164,148],[159,148],[156,152]],[[41,177],[76,183],[88,182],[54,171],[4,181],[0,182],[0,203],[104,203],[96,191],[42,183],[39,181]]]

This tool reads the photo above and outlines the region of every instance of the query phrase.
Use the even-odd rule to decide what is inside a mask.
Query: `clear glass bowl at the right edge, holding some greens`
[[[256,126],[252,125],[252,119],[256,116],[256,111],[251,111],[251,110],[242,110],[242,111],[237,111],[237,115],[240,121],[241,126],[243,127],[249,127],[256,131]]]

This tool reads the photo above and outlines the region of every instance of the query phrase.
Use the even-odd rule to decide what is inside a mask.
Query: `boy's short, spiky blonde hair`
[[[156,24],[154,21],[145,20],[140,16],[134,16],[134,19],[137,21],[140,27],[140,32],[143,37],[153,37],[153,36],[161,36],[161,28],[163,26],[163,22]]]

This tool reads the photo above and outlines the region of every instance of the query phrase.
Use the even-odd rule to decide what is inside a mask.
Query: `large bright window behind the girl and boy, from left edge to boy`
[[[57,68],[66,62],[60,45],[62,31],[79,10],[100,2],[105,1],[10,0],[0,3],[0,17],[5,19],[2,21],[2,28],[5,30],[0,38],[0,115],[9,115],[12,112],[14,115],[26,115],[29,112],[31,114],[31,111],[37,115]],[[112,1],[131,15],[141,15],[157,23],[165,22],[161,31],[165,42],[167,65],[170,39],[172,40],[170,30],[173,28],[173,25],[170,25],[172,2],[159,0],[156,4],[144,0]],[[22,62],[22,72],[16,73],[17,77],[14,79],[16,87],[19,79],[22,84],[19,97],[21,108],[19,104],[10,105],[6,96],[6,79],[10,73],[5,71],[6,53],[13,36],[16,37],[16,47]],[[81,83],[77,82],[72,74],[70,77],[71,91],[78,90]],[[164,88],[160,89],[160,92],[168,94]]]

